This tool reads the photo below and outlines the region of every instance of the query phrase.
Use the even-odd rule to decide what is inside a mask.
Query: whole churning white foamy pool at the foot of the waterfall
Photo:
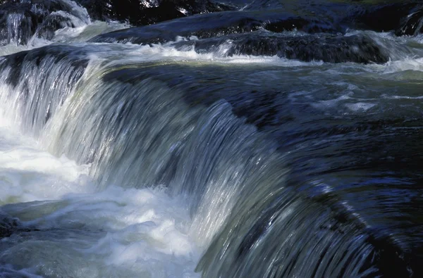
[[[41,230],[22,242],[8,239],[13,244],[0,251],[0,258],[13,265],[10,271],[57,277],[199,277],[194,270],[201,251],[190,238],[191,220],[182,198],[168,196],[161,187],[110,185],[98,191],[87,176],[90,165],[56,158],[7,120],[0,123],[0,204],[8,204],[4,212],[23,225]],[[41,202],[25,203],[33,201]],[[55,236],[66,231],[77,236]]]

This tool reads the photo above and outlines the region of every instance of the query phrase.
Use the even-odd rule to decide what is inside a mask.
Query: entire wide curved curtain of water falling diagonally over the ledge
[[[331,191],[309,196],[285,154],[223,99],[187,101],[151,63],[96,63],[92,49],[49,46],[0,61],[4,115],[100,188],[164,186],[185,196],[204,277],[407,274],[396,244]],[[163,77],[161,77],[163,79]],[[277,243],[277,244],[275,244]]]

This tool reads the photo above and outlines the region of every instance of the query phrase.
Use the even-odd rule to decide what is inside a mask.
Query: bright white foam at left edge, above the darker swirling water
[[[60,198],[71,192],[87,192],[88,165],[56,158],[21,139],[11,127],[0,127],[0,203]]]

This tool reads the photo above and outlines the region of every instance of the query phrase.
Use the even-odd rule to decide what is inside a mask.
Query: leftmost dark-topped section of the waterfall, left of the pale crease
[[[22,51],[0,61],[2,114],[38,136],[73,91],[87,65],[79,49],[53,47]],[[72,53],[74,52],[74,53]]]

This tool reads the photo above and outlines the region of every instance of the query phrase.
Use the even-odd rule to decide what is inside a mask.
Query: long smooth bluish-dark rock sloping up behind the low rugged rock
[[[196,36],[200,39],[221,37],[228,34],[252,32],[264,28],[272,32],[300,30],[304,32],[340,31],[338,26],[319,21],[317,18],[300,18],[291,13],[226,11],[193,15],[144,27],[118,30],[101,34],[91,42],[132,42],[134,44],[157,44],[180,37]]]

